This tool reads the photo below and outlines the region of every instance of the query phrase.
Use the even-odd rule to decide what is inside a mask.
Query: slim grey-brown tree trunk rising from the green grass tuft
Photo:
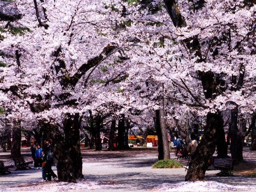
[[[162,84],[162,88],[164,85]],[[162,141],[163,141],[163,150],[164,150],[164,159],[170,159],[170,150],[168,144],[168,135],[166,129],[166,118],[165,118],[165,110],[164,110],[164,98],[160,98],[160,128],[162,133]]]

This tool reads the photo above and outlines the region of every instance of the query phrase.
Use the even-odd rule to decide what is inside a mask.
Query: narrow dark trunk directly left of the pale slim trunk
[[[158,160],[164,159],[164,148],[163,148],[163,139],[162,132],[160,127],[160,112],[156,110],[156,117],[154,118],[154,123],[156,127],[156,134],[158,137]]]

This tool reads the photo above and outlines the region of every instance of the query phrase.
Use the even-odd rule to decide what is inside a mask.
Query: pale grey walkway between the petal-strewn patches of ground
[[[157,156],[152,155],[93,160],[83,164],[83,174],[88,180],[102,183],[100,190],[90,190],[92,192],[148,191],[164,184],[184,182],[184,168],[152,169],[152,164],[156,161]],[[52,168],[56,173],[56,167]],[[216,177],[217,172],[219,171],[206,171],[206,180],[256,188],[256,178]],[[41,170],[12,171],[12,174],[0,175],[0,191],[8,192],[14,186],[38,183],[41,180]]]

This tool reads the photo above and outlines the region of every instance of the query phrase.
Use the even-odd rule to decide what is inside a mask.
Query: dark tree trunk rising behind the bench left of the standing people
[[[11,149],[12,158],[17,158],[21,156],[20,147],[21,147],[20,121],[17,122],[16,120],[14,120],[13,130],[12,130],[12,149]]]

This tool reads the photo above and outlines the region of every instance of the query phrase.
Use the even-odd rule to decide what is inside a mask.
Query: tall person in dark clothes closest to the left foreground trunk
[[[46,140],[46,173],[47,173],[47,180],[51,181],[52,178],[55,180],[57,178],[57,175],[52,170],[52,163],[53,163],[53,152],[52,152],[52,146],[49,142],[49,140]]]

